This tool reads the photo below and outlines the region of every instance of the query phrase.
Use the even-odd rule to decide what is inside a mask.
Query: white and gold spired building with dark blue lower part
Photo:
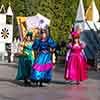
[[[92,0],[88,9],[84,10],[83,1],[80,0],[74,28],[82,28],[81,41],[86,43],[85,54],[87,59],[95,59],[96,52],[100,49],[100,22],[99,11],[95,1]]]

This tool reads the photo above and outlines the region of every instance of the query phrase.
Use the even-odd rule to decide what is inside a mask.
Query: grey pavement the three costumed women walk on
[[[17,65],[0,64],[0,100],[100,100],[100,72],[90,70],[80,85],[64,80],[64,65],[56,65],[53,80],[44,87],[25,87],[16,81]]]

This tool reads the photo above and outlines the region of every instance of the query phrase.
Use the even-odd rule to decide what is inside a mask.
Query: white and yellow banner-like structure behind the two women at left
[[[27,31],[32,31],[34,28],[45,29],[50,25],[50,20],[41,14],[36,16],[18,16],[17,17],[18,29],[21,41],[26,36]]]

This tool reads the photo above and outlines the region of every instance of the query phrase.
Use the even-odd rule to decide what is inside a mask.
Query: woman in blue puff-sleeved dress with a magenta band
[[[37,57],[32,66],[31,80],[41,87],[43,82],[49,82],[52,78],[52,53],[55,51],[56,43],[47,36],[47,30],[40,32],[41,38],[36,39],[33,50],[37,50]]]

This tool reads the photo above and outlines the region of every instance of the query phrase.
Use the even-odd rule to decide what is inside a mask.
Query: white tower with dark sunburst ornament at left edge
[[[6,43],[12,43],[13,41],[13,12],[9,5],[7,11],[4,5],[0,8],[0,56],[4,61],[4,57],[7,56]]]

